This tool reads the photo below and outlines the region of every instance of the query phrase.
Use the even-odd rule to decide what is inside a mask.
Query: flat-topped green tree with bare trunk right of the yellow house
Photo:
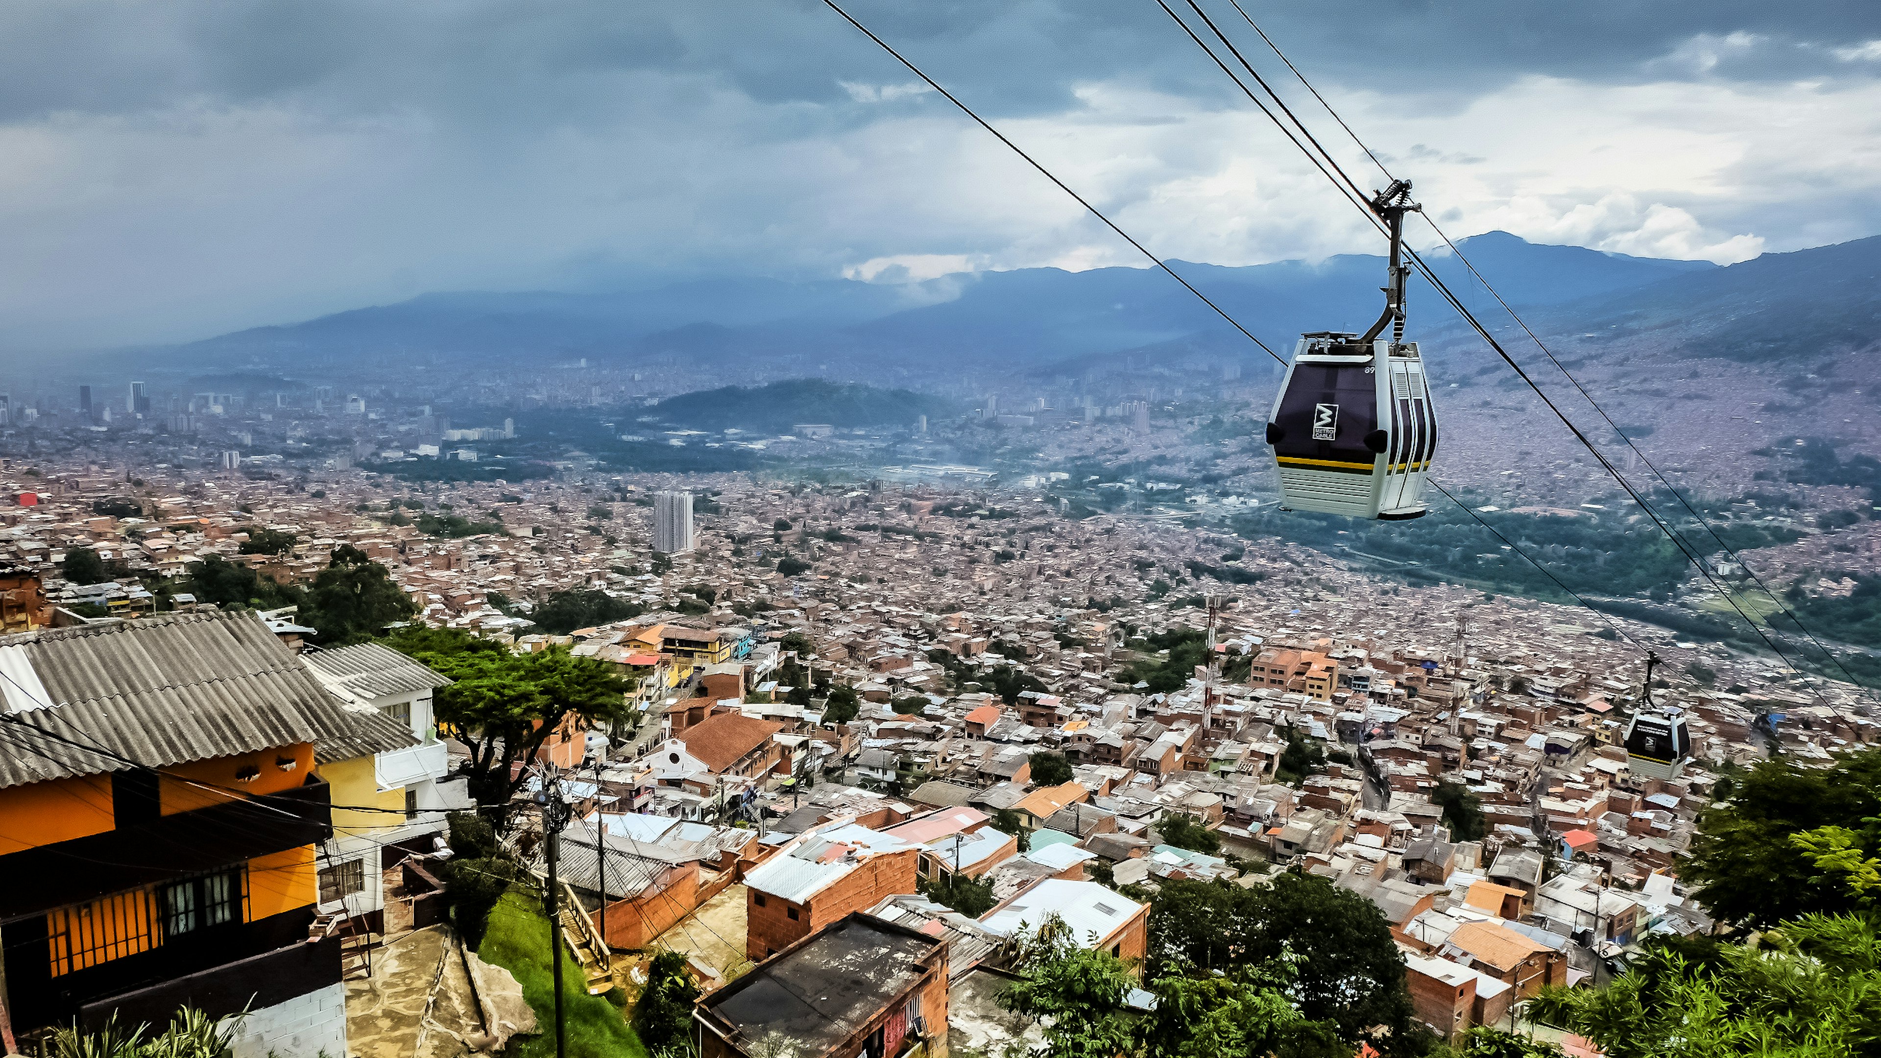
[[[574,657],[564,646],[510,653],[502,644],[444,631],[403,631],[387,640],[421,665],[451,678],[435,697],[438,725],[470,749],[465,774],[470,796],[500,810],[523,787],[512,764],[536,762],[542,744],[557,730],[581,730],[626,719],[632,683],[593,657]]]

